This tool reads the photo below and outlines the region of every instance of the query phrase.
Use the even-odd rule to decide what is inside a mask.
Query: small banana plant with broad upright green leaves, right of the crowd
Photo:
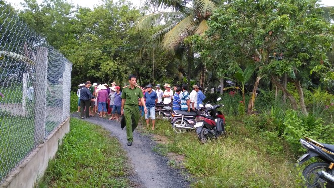
[[[245,84],[251,79],[251,76],[254,72],[253,66],[247,66],[246,69],[243,71],[240,66],[236,67],[236,72],[234,73],[234,78],[228,78],[224,77],[229,80],[235,81],[240,87],[238,86],[230,86],[226,87],[223,90],[228,90],[228,89],[240,89],[242,92],[242,98],[243,98],[243,105],[245,104]]]

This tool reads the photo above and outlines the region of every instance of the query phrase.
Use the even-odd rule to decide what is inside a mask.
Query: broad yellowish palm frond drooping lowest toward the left
[[[192,32],[193,27],[196,25],[194,16],[190,15],[175,25],[168,33],[163,37],[162,46],[165,49],[174,49],[184,37],[188,36]]]

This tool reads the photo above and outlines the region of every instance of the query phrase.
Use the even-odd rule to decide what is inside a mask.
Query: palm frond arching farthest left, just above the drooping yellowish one
[[[177,23],[180,19],[184,18],[185,15],[181,12],[155,12],[152,14],[145,15],[138,19],[136,30],[147,30],[152,26],[165,25],[166,23]],[[173,21],[175,20],[175,21]]]

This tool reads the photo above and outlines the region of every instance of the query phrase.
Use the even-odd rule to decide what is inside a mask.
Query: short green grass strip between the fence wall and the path
[[[126,153],[100,126],[72,118],[40,187],[129,187]]]

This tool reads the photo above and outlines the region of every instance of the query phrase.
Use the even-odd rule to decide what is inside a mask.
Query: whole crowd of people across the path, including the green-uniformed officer
[[[157,104],[170,107],[174,111],[192,112],[199,109],[205,99],[204,93],[197,85],[188,92],[188,85],[157,84],[155,89],[151,84],[140,87],[134,75],[129,76],[129,85],[120,88],[115,82],[108,84],[93,83],[90,81],[80,84],[77,91],[78,111],[81,118],[98,115],[109,120],[121,121],[123,116],[126,122],[128,146],[132,145],[132,132],[138,125],[140,116],[145,117],[146,127],[149,119],[152,120],[152,130],[155,129],[155,106]]]

